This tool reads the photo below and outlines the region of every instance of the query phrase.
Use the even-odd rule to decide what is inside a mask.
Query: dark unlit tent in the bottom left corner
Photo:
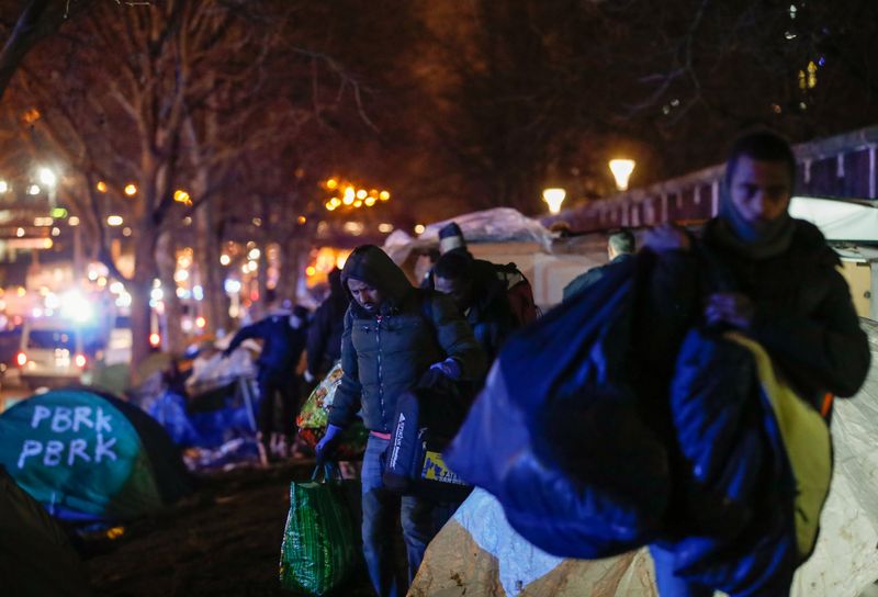
[[[0,466],[0,589],[19,597],[91,595],[64,530]]]

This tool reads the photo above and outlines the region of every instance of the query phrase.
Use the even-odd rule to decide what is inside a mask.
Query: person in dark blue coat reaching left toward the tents
[[[258,439],[268,455],[285,455],[295,436],[299,406],[296,365],[307,340],[307,309],[296,305],[293,312],[279,307],[273,294],[267,297],[269,313],[259,322],[245,326],[223,351],[228,357],[248,339],[262,341],[256,365],[259,370]],[[279,413],[279,415],[278,415]]]

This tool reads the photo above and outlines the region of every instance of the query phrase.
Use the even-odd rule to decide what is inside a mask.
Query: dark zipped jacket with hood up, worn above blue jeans
[[[447,357],[461,367],[462,381],[476,381],[485,359],[472,329],[450,297],[412,286],[380,248],[358,247],[345,263],[341,283],[350,295],[353,278],[381,293],[378,313],[351,297],[341,336],[341,378],[329,423],[346,427],[362,408],[370,431],[389,433],[396,399],[414,388],[432,363]]]

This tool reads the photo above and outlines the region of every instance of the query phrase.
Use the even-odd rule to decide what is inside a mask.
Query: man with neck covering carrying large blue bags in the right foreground
[[[789,593],[829,484],[826,396],[870,359],[837,257],[787,213],[795,174],[783,138],[741,137],[702,238],[654,230],[509,341],[446,460],[526,539],[650,544],[663,597]]]

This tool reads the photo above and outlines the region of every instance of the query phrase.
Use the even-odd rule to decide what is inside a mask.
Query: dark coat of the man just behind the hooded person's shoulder
[[[487,268],[480,267],[486,263]],[[485,351],[487,362],[493,363],[499,354],[506,338],[519,325],[507,298],[506,283],[498,279],[493,263],[473,263],[473,305],[466,311],[466,322],[473,335]]]

